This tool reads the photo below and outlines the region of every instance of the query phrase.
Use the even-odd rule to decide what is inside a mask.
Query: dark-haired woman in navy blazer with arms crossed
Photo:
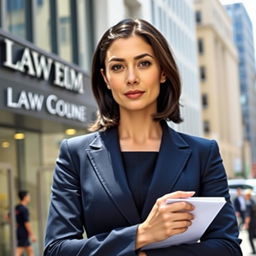
[[[166,124],[182,121],[181,85],[161,33],[137,19],[106,31],[92,87],[95,132],[62,142],[44,255],[242,255],[216,142]],[[165,202],[193,195],[227,200],[201,242],[143,250],[188,229],[193,206]]]

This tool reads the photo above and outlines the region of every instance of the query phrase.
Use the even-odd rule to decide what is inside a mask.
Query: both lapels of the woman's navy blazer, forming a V
[[[166,122],[162,123],[162,127],[162,142],[145,199],[142,220],[148,216],[159,197],[172,192],[191,154],[189,145],[177,132]],[[131,225],[141,222],[123,168],[118,128],[99,132],[99,136],[92,141],[87,150],[99,180],[120,213]]]

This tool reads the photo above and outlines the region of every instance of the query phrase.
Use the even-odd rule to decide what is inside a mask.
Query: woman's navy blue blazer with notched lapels
[[[195,196],[225,197],[227,203],[200,243],[148,250],[147,255],[242,255],[215,141],[175,132],[164,123],[156,167],[140,216],[127,184],[118,129],[64,140],[53,177],[44,255],[135,256],[138,224],[146,219],[159,197],[177,190],[196,191]],[[84,230],[87,238],[83,237]]]

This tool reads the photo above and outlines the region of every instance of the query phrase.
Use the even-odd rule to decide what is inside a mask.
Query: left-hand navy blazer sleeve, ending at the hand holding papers
[[[60,147],[53,176],[44,256],[135,256],[137,225],[83,238],[80,181],[67,141]]]

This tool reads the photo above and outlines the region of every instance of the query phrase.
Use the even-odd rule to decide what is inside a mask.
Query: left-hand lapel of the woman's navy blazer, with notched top
[[[139,223],[123,168],[117,128],[100,132],[87,151],[94,171],[120,213],[130,225]]]

